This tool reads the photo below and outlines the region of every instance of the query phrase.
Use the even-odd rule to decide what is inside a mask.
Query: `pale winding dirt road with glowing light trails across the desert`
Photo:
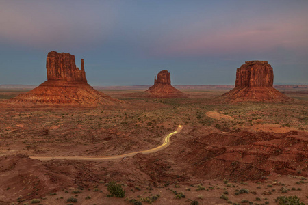
[[[31,159],[38,159],[40,161],[49,161],[53,159],[68,159],[68,160],[82,160],[82,161],[106,161],[106,160],[114,160],[114,159],[123,159],[128,156],[133,156],[138,153],[142,154],[150,154],[153,152],[158,152],[159,150],[163,150],[164,148],[168,147],[170,144],[170,137],[172,135],[175,135],[179,133],[182,130],[182,126],[179,125],[177,130],[169,133],[163,138],[163,143],[162,145],[152,148],[150,150],[143,150],[143,151],[138,151],[138,152],[131,152],[128,154],[121,154],[121,155],[113,155],[113,156],[29,156]]]

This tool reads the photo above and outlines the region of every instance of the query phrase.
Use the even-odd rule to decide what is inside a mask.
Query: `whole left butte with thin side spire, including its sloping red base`
[[[94,90],[87,83],[84,59],[81,59],[79,70],[74,55],[51,51],[47,55],[46,68],[47,81],[9,102],[55,105],[116,105],[121,102]]]

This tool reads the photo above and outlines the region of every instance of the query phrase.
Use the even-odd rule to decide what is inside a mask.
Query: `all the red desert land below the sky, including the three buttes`
[[[0,204],[308,203],[308,87],[272,79],[246,61],[234,88],[96,90],[52,51],[47,81],[0,90]]]

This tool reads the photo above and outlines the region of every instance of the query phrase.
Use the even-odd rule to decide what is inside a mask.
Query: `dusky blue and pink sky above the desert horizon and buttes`
[[[90,85],[234,85],[245,61],[308,84],[307,0],[0,1],[0,85],[47,80],[49,51],[81,58]]]

